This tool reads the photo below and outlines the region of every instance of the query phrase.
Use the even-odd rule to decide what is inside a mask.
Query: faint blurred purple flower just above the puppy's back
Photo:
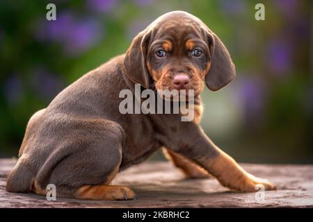
[[[33,89],[47,101],[53,99],[65,85],[60,77],[47,71],[44,67],[36,68],[33,73],[31,79]]]

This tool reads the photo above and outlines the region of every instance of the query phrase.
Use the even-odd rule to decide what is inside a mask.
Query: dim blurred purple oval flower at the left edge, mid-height
[[[8,77],[3,87],[3,94],[8,103],[17,105],[22,99],[22,82],[17,74],[12,74]]]

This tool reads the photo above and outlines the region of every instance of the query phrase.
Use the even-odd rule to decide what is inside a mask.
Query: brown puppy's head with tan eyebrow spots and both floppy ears
[[[124,65],[127,76],[145,88],[193,89],[195,96],[202,92],[203,79],[216,91],[236,75],[220,39],[200,19],[182,11],[162,15],[139,33]]]

